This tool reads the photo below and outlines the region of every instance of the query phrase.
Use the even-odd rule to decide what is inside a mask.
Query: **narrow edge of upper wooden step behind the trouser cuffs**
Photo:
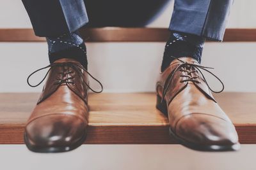
[[[81,34],[88,42],[164,42],[169,37],[165,28],[86,28]],[[0,29],[0,42],[40,42],[33,29]],[[223,41],[256,41],[256,29],[227,29]]]

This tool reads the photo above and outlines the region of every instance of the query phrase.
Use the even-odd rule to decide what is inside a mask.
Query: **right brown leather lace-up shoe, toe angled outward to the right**
[[[236,129],[202,74],[209,68],[191,57],[173,60],[157,81],[157,108],[168,116],[170,134],[180,144],[201,151],[238,150]]]

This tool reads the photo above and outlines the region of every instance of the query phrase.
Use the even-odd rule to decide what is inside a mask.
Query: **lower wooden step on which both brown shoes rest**
[[[0,143],[22,144],[26,120],[39,94],[0,94]],[[256,144],[256,93],[215,96],[236,125],[243,144]],[[156,94],[90,94],[88,144],[175,144]]]

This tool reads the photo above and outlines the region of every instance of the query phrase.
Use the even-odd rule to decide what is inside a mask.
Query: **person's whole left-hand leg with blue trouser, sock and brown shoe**
[[[24,141],[33,152],[67,152],[86,139],[88,92],[93,90],[88,80],[92,75],[86,70],[86,48],[77,32],[88,22],[84,1],[22,1],[35,34],[47,39],[51,62],[42,68],[49,68],[43,78],[47,80],[26,124]],[[31,87],[43,82],[37,85],[29,82],[29,78],[42,69],[29,75]]]

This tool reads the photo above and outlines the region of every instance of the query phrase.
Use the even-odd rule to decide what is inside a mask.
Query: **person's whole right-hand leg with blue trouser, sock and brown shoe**
[[[157,108],[168,116],[173,138],[194,150],[225,151],[240,147],[234,125],[216,103],[211,93],[215,91],[203,74],[211,73],[211,67],[200,66],[205,39],[223,39],[232,2],[175,1],[171,36],[157,81]],[[223,85],[221,80],[220,83]]]

